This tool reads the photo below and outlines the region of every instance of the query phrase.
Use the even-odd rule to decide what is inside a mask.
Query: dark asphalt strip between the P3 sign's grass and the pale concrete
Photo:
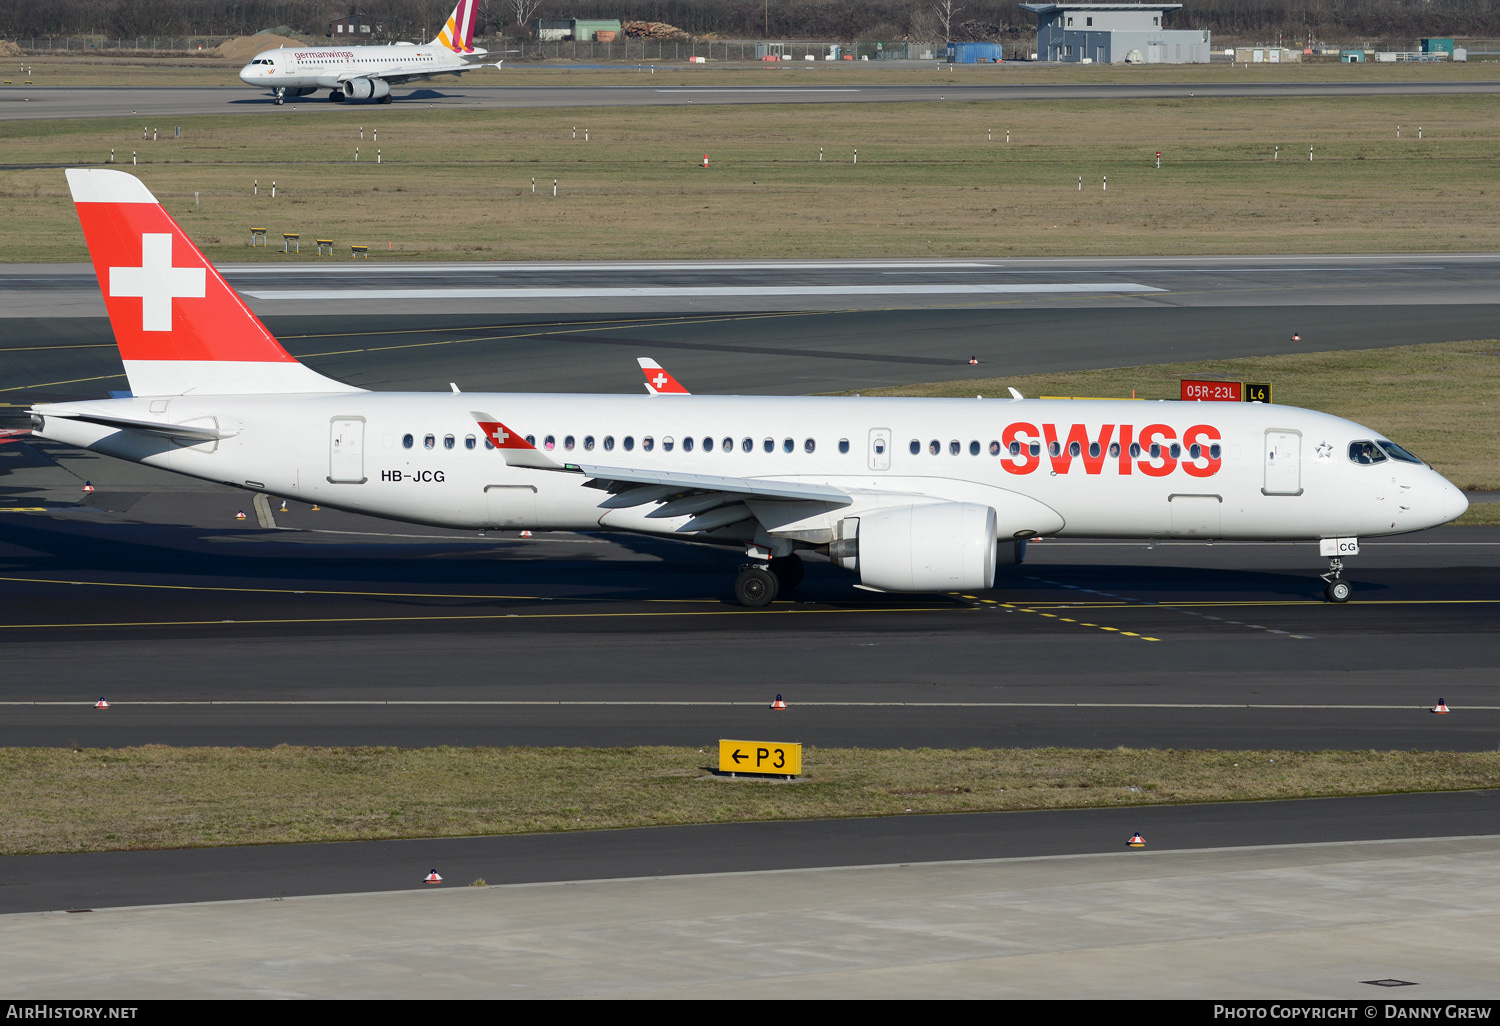
[[[730,784],[732,786],[732,784]],[[516,837],[278,844],[0,860],[0,915],[423,886],[1500,834],[1500,792],[1042,813],[654,826]]]

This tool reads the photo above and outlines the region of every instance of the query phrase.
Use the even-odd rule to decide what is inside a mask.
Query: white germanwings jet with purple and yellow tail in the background
[[[390,87],[434,75],[462,75],[484,63],[488,51],[474,50],[478,0],[459,0],[442,32],[426,46],[399,42],[393,46],[282,46],[256,54],[240,69],[249,86],[270,88],[276,102],[332,90],[330,100],[374,99],[390,104]]]

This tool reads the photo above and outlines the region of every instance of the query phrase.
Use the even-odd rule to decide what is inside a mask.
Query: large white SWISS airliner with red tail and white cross
[[[132,396],[32,408],[42,438],[358,513],[454,528],[638,531],[734,546],[735,597],[800,552],[874,591],[972,591],[1048,537],[1316,540],[1326,596],[1360,536],[1464,495],[1378,432],[1262,404],[364,392],[294,360],[147,188],[68,183]]]

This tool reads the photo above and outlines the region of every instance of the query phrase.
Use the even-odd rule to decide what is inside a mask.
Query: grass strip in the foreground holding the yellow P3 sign
[[[1413,717],[1424,716],[1412,710]],[[804,748],[796,782],[704,748],[3,748],[0,854],[450,837],[1432,792],[1500,753]],[[1124,844],[1125,838],[1120,838]]]

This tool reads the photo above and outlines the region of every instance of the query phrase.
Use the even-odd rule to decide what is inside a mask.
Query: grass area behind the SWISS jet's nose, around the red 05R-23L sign
[[[1278,404],[1359,422],[1413,450],[1462,489],[1500,489],[1500,340],[1196,360],[1004,378],[936,381],[862,394],[1118,396],[1176,399],[1182,378],[1270,381]],[[1476,507],[1461,524],[1496,524]]]

